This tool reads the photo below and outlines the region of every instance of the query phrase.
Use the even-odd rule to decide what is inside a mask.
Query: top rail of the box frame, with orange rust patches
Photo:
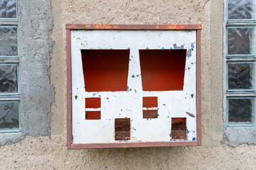
[[[201,30],[201,25],[66,24],[70,30]]]

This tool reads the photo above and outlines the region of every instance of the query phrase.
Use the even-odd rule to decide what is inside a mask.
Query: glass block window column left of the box
[[[0,133],[20,132],[16,0],[0,0]]]

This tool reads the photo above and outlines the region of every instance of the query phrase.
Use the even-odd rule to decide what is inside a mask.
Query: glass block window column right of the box
[[[228,127],[255,125],[255,2],[226,0],[225,103]]]

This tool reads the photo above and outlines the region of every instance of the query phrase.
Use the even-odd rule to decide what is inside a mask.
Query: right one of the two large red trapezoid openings
[[[182,91],[186,50],[139,50],[144,91]]]

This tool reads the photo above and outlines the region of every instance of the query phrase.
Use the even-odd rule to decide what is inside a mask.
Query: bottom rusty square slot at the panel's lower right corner
[[[186,140],[186,118],[171,118],[171,139]]]

